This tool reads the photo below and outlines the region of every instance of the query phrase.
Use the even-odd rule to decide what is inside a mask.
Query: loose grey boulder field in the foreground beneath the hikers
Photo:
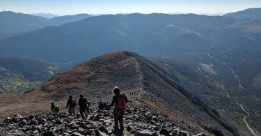
[[[0,135],[191,135],[167,116],[132,106],[125,109],[123,134],[113,133],[112,111],[93,109],[87,121],[81,120],[79,112],[76,119],[66,112],[41,116],[17,114],[0,123]],[[212,130],[212,133],[221,134],[218,130]]]

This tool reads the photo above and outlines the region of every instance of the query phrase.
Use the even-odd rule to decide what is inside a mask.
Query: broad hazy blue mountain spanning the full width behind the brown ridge
[[[0,55],[68,62],[130,50],[177,58],[259,50],[260,30],[260,20],[192,14],[101,15],[0,40]]]

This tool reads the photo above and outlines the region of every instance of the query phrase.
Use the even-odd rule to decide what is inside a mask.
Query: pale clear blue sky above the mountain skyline
[[[16,13],[231,13],[260,8],[261,0],[0,0],[0,11]]]

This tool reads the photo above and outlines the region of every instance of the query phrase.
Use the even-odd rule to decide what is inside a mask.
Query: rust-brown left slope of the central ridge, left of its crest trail
[[[107,54],[56,75],[39,88],[20,95],[22,100],[14,95],[3,96],[0,100],[3,106],[0,107],[1,120],[18,112],[20,114],[46,114],[49,112],[52,101],[65,110],[69,95],[78,99],[79,94],[83,93],[93,103],[100,99],[109,102],[113,86],[118,85],[122,88],[131,86],[132,81],[129,81],[127,77],[136,75],[136,73],[128,72],[132,71],[133,63],[135,59],[125,56],[122,52]]]

